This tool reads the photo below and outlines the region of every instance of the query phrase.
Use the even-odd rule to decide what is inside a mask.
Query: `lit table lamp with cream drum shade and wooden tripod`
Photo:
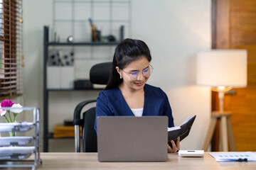
[[[218,92],[220,101],[220,109],[218,115],[212,114],[210,123],[210,136],[206,137],[204,149],[208,147],[217,118],[220,118],[220,141],[223,151],[228,149],[228,130],[232,130],[230,123],[230,113],[224,112],[224,94],[233,87],[247,86],[247,51],[246,50],[209,50],[198,52],[196,59],[196,84],[199,86],[210,86],[213,91]],[[214,117],[214,118],[213,118]],[[228,129],[226,128],[228,125]],[[231,138],[233,137],[233,132]],[[224,138],[224,139],[223,139]],[[233,149],[235,149],[235,141],[233,139]],[[207,146],[206,146],[207,145]]]

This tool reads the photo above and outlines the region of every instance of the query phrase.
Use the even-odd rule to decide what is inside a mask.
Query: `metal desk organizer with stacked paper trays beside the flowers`
[[[1,108],[9,111],[10,108]],[[22,108],[23,111],[33,113],[33,123],[0,123],[0,132],[28,132],[33,130],[32,137],[17,136],[17,137],[0,137],[0,168],[2,167],[28,167],[36,169],[40,159],[40,114],[39,108]],[[22,114],[22,113],[20,113]],[[26,146],[29,142],[33,142],[33,146]],[[25,145],[19,147],[20,145]]]

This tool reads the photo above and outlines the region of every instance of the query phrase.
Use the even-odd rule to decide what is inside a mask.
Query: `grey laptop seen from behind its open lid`
[[[166,116],[99,116],[100,162],[164,162],[167,160]]]

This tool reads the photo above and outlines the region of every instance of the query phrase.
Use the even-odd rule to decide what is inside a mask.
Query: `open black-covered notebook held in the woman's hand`
[[[196,119],[196,115],[189,116],[180,126],[175,126],[172,128],[168,128],[168,143],[171,145],[171,140],[174,140],[176,143],[177,137],[180,137],[180,141],[188,136],[193,122]]]

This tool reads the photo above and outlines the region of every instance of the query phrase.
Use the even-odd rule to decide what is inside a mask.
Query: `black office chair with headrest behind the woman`
[[[107,84],[110,77],[112,62],[95,64],[90,69],[90,81],[92,84]],[[97,152],[97,134],[95,125],[95,107],[82,113],[82,108],[89,103],[95,103],[97,100],[82,101],[75,107],[74,120],[75,125],[75,152],[80,152],[80,126],[82,127],[82,152]]]

